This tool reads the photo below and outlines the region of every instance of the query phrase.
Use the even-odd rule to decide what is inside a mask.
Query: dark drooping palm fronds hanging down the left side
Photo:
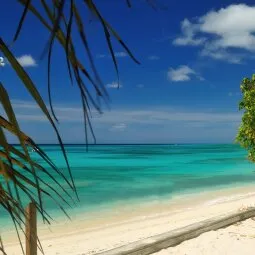
[[[48,55],[47,87],[50,111],[47,109],[42,96],[38,92],[36,84],[34,84],[31,77],[14,57],[10,45],[8,45],[6,41],[1,38],[1,36],[0,53],[3,54],[3,56],[8,60],[8,63],[15,71],[16,76],[20,79],[27,92],[32,96],[34,102],[39,106],[50,125],[55,130],[69,173],[67,177],[60,169],[57,168],[47,154],[21,130],[19,121],[16,119],[11,100],[9,99],[8,92],[6,91],[7,86],[4,87],[3,84],[0,84],[0,101],[3,106],[3,112],[0,114],[0,205],[2,205],[2,207],[9,213],[20,240],[18,230],[20,229],[21,232],[24,233],[24,218],[26,217],[20,194],[22,194],[22,196],[26,196],[27,199],[36,204],[37,210],[47,223],[50,223],[51,217],[47,213],[43,203],[43,198],[45,196],[53,199],[64,213],[65,210],[62,204],[70,205],[68,199],[73,202],[72,193],[64,188],[64,186],[60,183],[59,178],[62,178],[71,188],[71,191],[74,191],[78,197],[69,162],[67,160],[66,151],[55,123],[55,121],[57,121],[57,116],[54,112],[54,105],[52,103],[50,82],[52,66],[51,56],[54,45],[58,43],[63,48],[63,52],[66,56],[70,81],[72,84],[76,84],[80,91],[82,109],[84,113],[86,143],[88,143],[89,131],[95,140],[95,134],[93,132],[90,119],[91,107],[95,108],[101,113],[102,109],[100,98],[102,98],[107,104],[109,101],[109,96],[100,75],[97,72],[97,68],[93,60],[93,54],[89,47],[89,36],[85,31],[86,27],[83,21],[83,10],[87,8],[87,10],[89,10],[90,13],[93,13],[93,15],[101,23],[103,28],[102,32],[105,36],[106,44],[110,51],[117,76],[119,76],[118,63],[115,57],[112,40],[117,40],[131,57],[131,59],[134,60],[134,62],[139,62],[132,55],[131,51],[117,34],[117,32],[112,28],[112,26],[110,26],[107,20],[105,20],[97,5],[92,0],[17,0],[17,2],[22,4],[24,9],[17,29],[14,33],[14,43],[18,43],[18,38],[21,35],[22,27],[24,26],[26,17],[29,14],[33,14],[35,18],[38,19],[43,25],[43,29],[46,29],[49,32],[49,40],[48,42],[45,42],[46,45],[42,45],[42,49],[44,49],[43,55]],[[84,9],[77,8],[78,2],[83,3]],[[123,2],[126,3],[128,7],[131,7],[131,1],[123,0]],[[73,29],[73,26],[76,26],[75,29]],[[88,66],[81,61],[82,58],[80,55],[83,54],[83,52],[77,53],[76,51],[77,43],[73,40],[73,31],[77,30],[80,40],[84,46]],[[96,96],[93,96],[94,93]],[[8,142],[5,135],[5,133],[8,132],[18,139],[21,149],[18,149]],[[45,163],[47,163],[48,168],[38,164],[35,159],[31,157],[29,148],[33,149],[35,153]],[[48,176],[52,183],[45,182],[43,175],[41,174]],[[1,182],[1,180],[3,182]],[[5,185],[2,183],[5,183]],[[57,186],[54,187],[54,185]],[[62,193],[64,195],[62,195]],[[60,203],[59,201],[62,202]],[[4,254],[4,248],[1,240],[0,251],[2,251]]]

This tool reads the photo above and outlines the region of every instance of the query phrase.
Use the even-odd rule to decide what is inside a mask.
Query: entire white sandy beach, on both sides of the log
[[[51,229],[40,226],[39,235],[45,254],[95,254],[217,215],[255,206],[255,188],[232,188],[126,208],[92,220],[82,217],[64,220]],[[12,233],[2,234],[6,253],[21,254]],[[159,254],[254,254],[255,221],[248,219],[225,229],[211,231],[162,250]]]

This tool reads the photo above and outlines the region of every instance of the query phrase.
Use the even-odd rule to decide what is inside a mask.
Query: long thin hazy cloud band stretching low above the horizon
[[[38,106],[32,102],[12,100],[17,118],[21,121],[45,121]],[[61,122],[83,122],[82,108],[78,106],[56,105],[56,115]],[[92,111],[92,122],[95,125],[110,125],[123,128],[130,124],[163,125],[172,122],[203,122],[203,123],[237,123],[241,120],[241,114],[235,112],[202,112],[186,109],[159,108],[159,109],[120,109],[97,114]],[[116,121],[119,124],[116,124]]]

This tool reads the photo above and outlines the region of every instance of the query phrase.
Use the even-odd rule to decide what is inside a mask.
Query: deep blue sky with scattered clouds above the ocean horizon
[[[240,83],[255,73],[253,1],[153,2],[156,8],[144,0],[131,1],[132,8],[124,0],[95,1],[141,63],[134,63],[113,40],[119,88],[102,27],[79,3],[96,67],[110,96],[109,106],[102,105],[103,114],[92,109],[97,143],[232,143],[242,116]],[[11,42],[22,7],[16,1],[4,1],[1,7],[1,36]],[[30,14],[11,46],[47,105],[47,58],[41,55],[48,39]],[[74,39],[77,54],[87,63],[75,30]],[[51,74],[63,141],[84,143],[79,90],[68,79],[57,42]],[[55,143],[52,127],[8,63],[0,67],[0,78],[23,131],[37,143]]]

